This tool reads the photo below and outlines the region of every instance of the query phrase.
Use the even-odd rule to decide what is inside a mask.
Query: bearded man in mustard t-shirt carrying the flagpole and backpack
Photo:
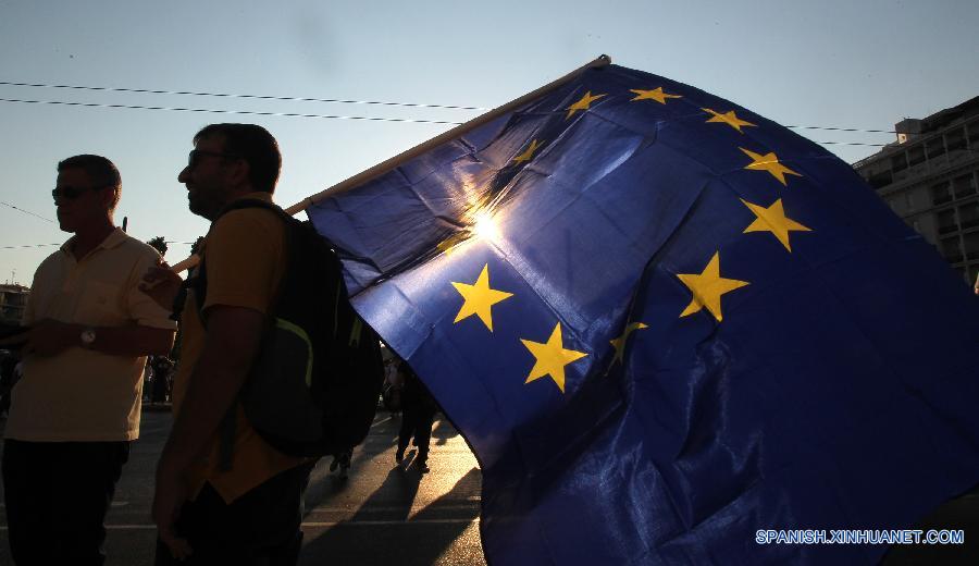
[[[285,226],[261,208],[221,214],[239,199],[271,202],[282,158],[275,138],[252,124],[209,125],[194,146],[177,179],[190,211],[212,221],[199,250],[207,293],[201,299],[191,286],[181,313],[175,419],[153,499],[157,564],[294,565],[310,462],[265,443],[236,405],[285,272]],[[175,274],[151,270],[145,282],[161,305],[172,304]],[[222,444],[226,415],[234,441]],[[227,459],[222,445],[232,446]]]

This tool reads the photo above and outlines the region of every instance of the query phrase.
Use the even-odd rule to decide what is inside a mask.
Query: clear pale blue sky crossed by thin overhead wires
[[[361,103],[11,85],[0,98],[464,122],[606,53],[783,125],[890,131],[979,96],[976,22],[976,0],[0,0],[0,82]],[[182,243],[207,221],[187,210],[176,176],[213,122],[258,123],[278,139],[283,206],[453,127],[0,101],[0,282],[29,285],[70,236],[50,190],[58,161],[77,153],[119,167],[117,224],[163,236],[166,259],[184,259]],[[879,148],[839,143],[894,139],[796,131],[838,143],[825,147],[850,163]]]

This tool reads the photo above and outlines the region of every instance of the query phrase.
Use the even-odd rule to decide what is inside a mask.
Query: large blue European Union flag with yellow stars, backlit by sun
[[[483,472],[491,564],[873,563],[979,481],[979,309],[843,161],[590,70],[309,209]]]

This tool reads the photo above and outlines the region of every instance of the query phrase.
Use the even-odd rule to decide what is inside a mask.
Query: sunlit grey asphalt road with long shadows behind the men
[[[140,439],[133,443],[107,518],[110,566],[153,563],[153,466],[171,422],[170,413],[144,411]],[[466,442],[448,421],[436,421],[431,471],[421,473],[410,450],[407,466],[395,465],[398,424],[397,417],[379,411],[367,441],[354,452],[346,480],[330,472],[330,458],[317,465],[306,497],[301,565],[485,564],[479,532],[481,473]],[[0,513],[0,564],[12,564],[5,513]]]

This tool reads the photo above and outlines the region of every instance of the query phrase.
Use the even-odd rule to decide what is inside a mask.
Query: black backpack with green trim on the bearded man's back
[[[311,222],[253,199],[230,204],[218,218],[244,208],[264,208],[282,218],[288,255],[261,349],[238,397],[245,416],[284,454],[348,451],[363,442],[377,408],[384,382],[380,337],[350,305],[339,258]],[[187,283],[198,308],[207,294],[206,263]],[[231,466],[235,409],[221,428],[224,469]]]

